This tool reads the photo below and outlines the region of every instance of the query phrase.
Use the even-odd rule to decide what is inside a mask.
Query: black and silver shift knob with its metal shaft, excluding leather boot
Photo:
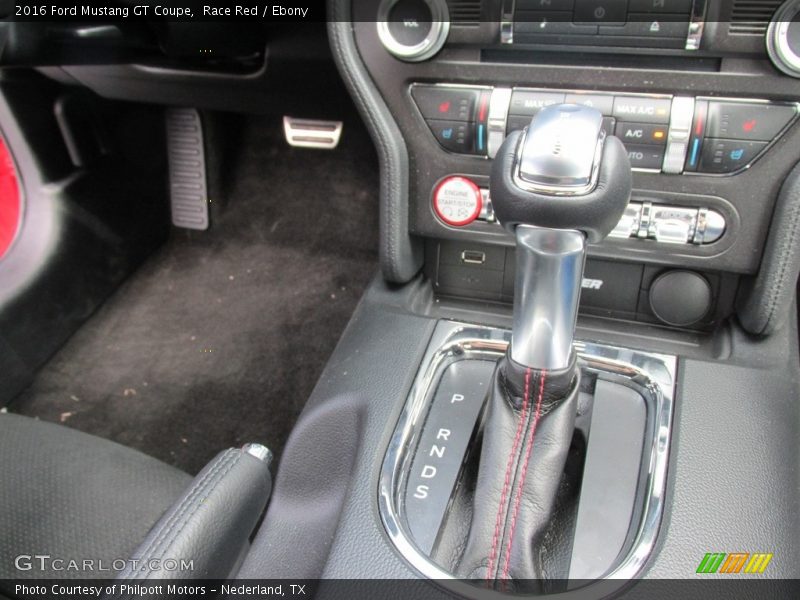
[[[492,205],[517,237],[511,358],[527,367],[569,364],[586,240],[608,235],[630,198],[627,153],[602,122],[593,108],[547,107],[492,169]]]

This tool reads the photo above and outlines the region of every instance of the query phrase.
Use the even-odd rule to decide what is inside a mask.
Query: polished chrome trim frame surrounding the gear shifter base
[[[461,359],[497,360],[505,353],[510,338],[509,331],[495,327],[456,321],[439,322],[392,434],[380,474],[378,507],[394,546],[422,575],[470,598],[486,598],[499,592],[455,579],[417,548],[406,524],[402,490],[412,458],[410,450],[419,440],[428,403],[443,370]],[[653,411],[655,416],[653,436],[648,446],[649,463],[644,486],[646,495],[630,550],[603,579],[553,595],[588,600],[613,593],[623,587],[627,580],[636,577],[655,546],[664,512],[677,358],[592,342],[575,342],[574,347],[585,372],[635,389],[642,394],[648,411]]]

